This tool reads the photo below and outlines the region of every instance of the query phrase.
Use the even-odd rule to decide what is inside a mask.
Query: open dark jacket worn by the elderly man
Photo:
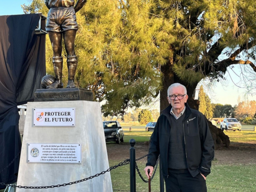
[[[207,176],[214,157],[214,144],[208,123],[203,114],[185,103],[185,118],[182,123],[188,171],[193,177],[199,172]],[[155,167],[158,155],[162,162],[163,176],[168,177],[168,143],[171,129],[171,106],[165,108],[151,136],[148,163]]]

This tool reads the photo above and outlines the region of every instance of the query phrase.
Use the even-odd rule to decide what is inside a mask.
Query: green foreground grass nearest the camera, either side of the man
[[[110,165],[118,164],[109,161]],[[144,176],[145,162],[137,163]],[[255,192],[256,191],[256,165],[216,165],[213,162],[212,173],[207,177],[208,192]],[[145,176],[144,176],[145,177]],[[112,187],[114,190],[130,190],[129,165],[111,171]],[[151,192],[159,192],[159,170],[151,181]],[[148,184],[144,183],[136,173],[136,191],[148,192]]]

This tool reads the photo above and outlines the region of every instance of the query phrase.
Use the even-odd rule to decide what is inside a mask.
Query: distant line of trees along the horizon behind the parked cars
[[[209,96],[204,92],[201,85],[198,100],[200,102],[199,111],[205,115],[207,119],[213,117],[230,118],[235,117],[244,124],[256,124],[256,101],[241,101],[238,105],[232,107],[229,104],[211,103]],[[120,122],[139,122],[144,125],[149,122],[156,122],[160,113],[159,110],[135,109],[132,112],[127,112],[123,117],[107,116],[102,117],[103,121],[119,120]]]

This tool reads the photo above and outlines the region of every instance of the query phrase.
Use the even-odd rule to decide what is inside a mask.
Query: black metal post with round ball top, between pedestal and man
[[[130,139],[130,192],[136,192],[136,175],[135,175],[135,139]]]

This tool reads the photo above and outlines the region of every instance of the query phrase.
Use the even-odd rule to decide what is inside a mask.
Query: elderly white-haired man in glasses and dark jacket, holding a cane
[[[214,157],[207,120],[187,105],[184,85],[172,84],[167,94],[171,105],[162,111],[152,133],[146,176],[152,175],[160,155],[166,192],[207,192],[206,176]]]

